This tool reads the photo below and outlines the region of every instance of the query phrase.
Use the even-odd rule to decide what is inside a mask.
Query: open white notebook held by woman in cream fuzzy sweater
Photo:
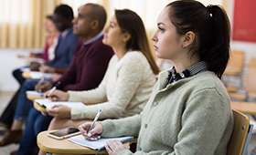
[[[85,106],[82,102],[51,101],[49,99],[35,99],[35,102],[37,102],[42,107],[46,107],[48,109],[51,109],[54,105],[64,105],[68,106],[69,108]]]

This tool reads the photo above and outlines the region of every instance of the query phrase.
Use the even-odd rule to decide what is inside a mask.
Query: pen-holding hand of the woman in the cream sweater
[[[52,93],[48,94],[49,90],[45,93],[45,98],[52,101],[67,101],[69,100],[69,93],[61,90],[54,90]]]

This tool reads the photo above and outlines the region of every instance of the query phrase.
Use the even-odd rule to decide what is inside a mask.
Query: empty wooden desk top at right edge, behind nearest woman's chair
[[[256,103],[231,101],[231,107],[244,114],[256,115]]]

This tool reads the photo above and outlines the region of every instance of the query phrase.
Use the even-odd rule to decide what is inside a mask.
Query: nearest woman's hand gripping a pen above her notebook
[[[81,135],[87,140],[99,140],[101,139],[100,134],[103,131],[103,127],[101,123],[96,122],[94,124],[94,128],[88,133],[89,129],[91,128],[91,122],[86,122],[79,126]]]

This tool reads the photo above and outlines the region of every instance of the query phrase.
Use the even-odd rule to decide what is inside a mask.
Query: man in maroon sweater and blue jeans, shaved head
[[[86,9],[84,9],[86,6]],[[101,5],[87,4],[79,9],[73,20],[74,34],[80,36],[72,63],[68,71],[59,79],[62,90],[87,90],[97,88],[107,69],[113,52],[111,47],[102,44],[103,26],[106,12]],[[36,89],[47,90],[55,83],[38,82]],[[58,108],[58,109],[61,109]],[[30,109],[24,136],[17,154],[30,154],[37,147],[37,134],[48,129],[52,117],[43,116],[37,109]]]

